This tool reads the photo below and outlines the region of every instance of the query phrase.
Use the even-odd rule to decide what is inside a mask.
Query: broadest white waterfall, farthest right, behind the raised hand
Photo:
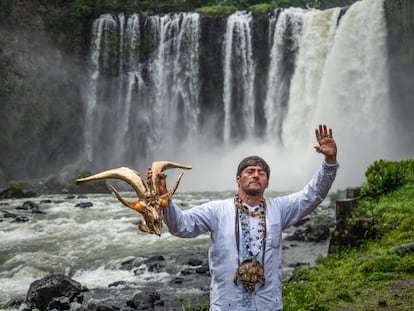
[[[401,133],[393,133],[398,121],[390,113],[386,37],[383,1],[356,2],[341,19],[326,60],[316,117],[336,128],[346,180],[401,152]]]

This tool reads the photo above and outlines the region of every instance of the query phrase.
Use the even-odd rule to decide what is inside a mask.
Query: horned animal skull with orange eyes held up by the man
[[[160,236],[162,230],[161,209],[162,207],[167,206],[168,200],[177,190],[181,177],[184,174],[180,174],[178,180],[168,192],[161,194],[160,178],[157,175],[159,172],[170,168],[182,168],[189,170],[191,169],[191,166],[168,161],[153,162],[151,165],[152,179],[151,182],[148,182],[148,184],[145,183],[137,171],[132,170],[128,167],[120,167],[104,171],[86,178],[77,179],[76,184],[109,178],[126,181],[132,186],[132,188],[134,188],[135,193],[138,196],[137,201],[127,201],[113,186],[109,186],[109,188],[113,191],[115,196],[122,204],[142,214],[143,218],[140,219],[138,225],[141,231],[154,233]]]

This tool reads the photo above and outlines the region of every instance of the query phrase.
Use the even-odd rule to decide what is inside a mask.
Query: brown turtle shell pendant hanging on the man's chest
[[[254,292],[256,283],[261,283],[260,287],[265,285],[264,269],[256,256],[243,261],[237,268],[234,276],[234,284],[238,285],[239,281],[247,292]]]

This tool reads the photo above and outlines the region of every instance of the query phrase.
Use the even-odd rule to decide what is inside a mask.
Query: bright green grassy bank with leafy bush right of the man
[[[376,161],[353,217],[372,217],[376,236],[357,249],[319,259],[283,286],[284,310],[411,310],[414,254],[414,160]]]

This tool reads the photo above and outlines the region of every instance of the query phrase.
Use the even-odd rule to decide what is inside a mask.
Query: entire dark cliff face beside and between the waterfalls
[[[82,25],[55,21],[60,27],[51,28],[51,19],[63,15],[60,8],[46,5],[48,2],[18,1],[10,11],[0,7],[0,186],[10,180],[56,172],[83,154],[83,87],[88,81],[88,27],[93,17],[85,17]],[[410,0],[387,0],[386,12],[394,113],[408,120],[414,113],[414,4]],[[255,32],[262,33],[263,38],[267,36],[266,22],[255,18]],[[225,25],[219,18],[204,17],[201,22],[200,99],[205,115],[216,109],[203,102],[221,102],[222,94],[216,90],[223,83],[222,66],[217,60]],[[253,44],[259,64],[257,81],[264,85],[260,74],[264,75],[268,64],[260,52],[267,49],[260,47],[266,40]],[[291,52],[286,53],[286,74],[292,74],[294,59],[289,58]],[[401,139],[414,144],[409,134],[413,126],[407,125],[410,122],[401,124],[407,133]]]

